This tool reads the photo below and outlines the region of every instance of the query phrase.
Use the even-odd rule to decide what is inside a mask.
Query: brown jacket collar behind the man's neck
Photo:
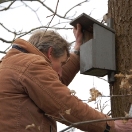
[[[34,45],[25,41],[24,39],[16,39],[13,44],[20,46],[29,53],[40,55],[44,57],[48,62],[51,62],[41,51],[39,51]]]

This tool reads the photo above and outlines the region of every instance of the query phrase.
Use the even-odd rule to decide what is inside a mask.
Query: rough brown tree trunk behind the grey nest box
[[[114,20],[116,72],[129,74],[132,69],[132,0],[108,0],[108,16]],[[130,89],[120,88],[120,83],[121,78],[116,78],[113,86],[110,86],[110,93],[131,94]],[[131,103],[131,96],[112,97],[112,117],[124,116],[124,111],[129,112]]]

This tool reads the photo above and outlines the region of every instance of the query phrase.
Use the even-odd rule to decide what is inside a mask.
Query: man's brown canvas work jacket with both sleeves
[[[71,94],[67,88],[79,70],[79,59],[71,54],[63,67],[62,82],[50,61],[32,44],[17,39],[0,63],[0,132],[56,132],[56,122],[70,123],[105,119]],[[66,120],[66,121],[64,121]],[[114,123],[107,122],[113,132]],[[104,132],[106,122],[78,125],[89,132]]]

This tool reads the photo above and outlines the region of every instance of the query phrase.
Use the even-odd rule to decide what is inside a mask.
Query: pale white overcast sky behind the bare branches
[[[59,0],[57,13],[61,16],[65,14],[66,11],[68,11],[71,7],[76,5],[77,3],[82,2],[83,0]],[[51,20],[52,17],[48,17],[49,15],[52,15],[50,11],[47,9],[41,8],[40,4],[37,2],[26,2],[28,5],[30,5],[34,10],[37,10],[38,16],[41,20],[42,25],[47,25],[48,22]],[[7,6],[9,2],[6,2],[4,4],[0,5],[0,9],[2,9],[1,6]],[[46,0],[45,4],[50,7],[52,10],[56,9],[57,0]],[[41,23],[36,18],[36,14],[33,13],[33,11],[26,6],[21,6],[22,4],[20,1],[17,1],[16,4],[14,4],[12,7],[17,7],[15,9],[11,9],[10,11],[2,11],[0,12],[0,23],[3,23],[6,27],[8,27],[12,31],[28,31],[32,28],[35,28],[37,26],[41,26]],[[78,6],[74,8],[72,11],[68,13],[68,16],[70,16],[71,19],[74,19],[78,17],[82,13],[86,13],[93,17],[94,19],[101,21],[104,14],[107,13],[107,0],[89,0],[89,2],[82,4],[81,6]],[[60,24],[57,27],[71,27],[69,24],[70,20],[64,20],[60,19],[58,17],[55,17],[53,21],[51,22],[51,25],[57,24],[58,22],[68,22],[68,24]],[[0,37],[11,40],[13,38],[13,35],[7,31],[5,31],[0,26]],[[75,40],[73,31],[72,30],[57,30],[63,36],[67,41],[72,42]],[[28,39],[29,35],[22,37],[23,39]],[[0,50],[5,50],[9,44],[3,44],[2,41],[0,41]],[[0,58],[2,58],[4,54],[0,54]],[[104,77],[104,79],[107,80],[107,76]],[[109,84],[104,81],[103,79],[99,79],[97,77],[89,76],[89,75],[83,75],[78,72],[72,83],[68,86],[71,90],[76,91],[76,96],[78,96],[85,103],[88,103],[87,100],[90,97],[89,89],[95,87],[98,89],[103,95],[109,95]],[[106,101],[108,101],[109,98],[103,98],[102,104]],[[104,113],[107,113],[109,111],[109,103],[108,107],[103,111]],[[91,102],[88,103],[91,107],[95,108],[96,103]],[[66,128],[67,126],[58,124],[58,131]],[[76,130],[76,132],[80,132],[79,130]]]

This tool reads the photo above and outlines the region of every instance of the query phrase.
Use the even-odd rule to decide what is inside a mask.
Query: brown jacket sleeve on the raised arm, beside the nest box
[[[80,69],[80,58],[75,54],[70,54],[69,61],[62,67],[62,78],[60,79],[63,84],[68,86],[73,80],[75,75]]]

